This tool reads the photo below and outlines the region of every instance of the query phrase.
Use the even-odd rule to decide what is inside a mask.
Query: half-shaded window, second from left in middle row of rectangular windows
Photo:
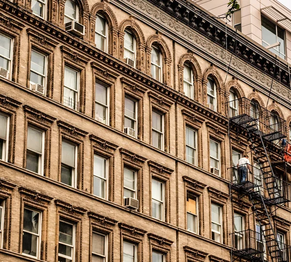
[[[26,169],[43,174],[45,132],[27,128]]]

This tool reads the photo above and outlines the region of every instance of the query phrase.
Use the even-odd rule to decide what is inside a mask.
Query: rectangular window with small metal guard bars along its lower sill
[[[79,72],[65,66],[64,105],[78,110]]]

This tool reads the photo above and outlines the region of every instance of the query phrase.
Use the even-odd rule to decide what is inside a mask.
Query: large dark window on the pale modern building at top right
[[[262,22],[262,46],[270,46],[277,42],[279,46],[270,48],[269,50],[274,54],[285,59],[285,30],[277,26],[269,19],[261,16]]]

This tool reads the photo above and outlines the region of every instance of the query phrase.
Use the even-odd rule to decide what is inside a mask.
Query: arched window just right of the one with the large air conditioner
[[[108,43],[108,25],[103,15],[97,14],[95,23],[95,44],[96,47],[107,52]]]

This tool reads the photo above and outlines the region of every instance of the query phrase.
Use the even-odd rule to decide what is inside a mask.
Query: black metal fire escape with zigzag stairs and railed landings
[[[228,104],[230,131],[246,136],[256,158],[249,169],[230,169],[232,196],[248,197],[256,216],[254,230],[231,234],[232,262],[290,262],[290,246],[279,238],[275,219],[276,210],[291,200],[291,184],[283,180],[286,122],[245,97]]]

